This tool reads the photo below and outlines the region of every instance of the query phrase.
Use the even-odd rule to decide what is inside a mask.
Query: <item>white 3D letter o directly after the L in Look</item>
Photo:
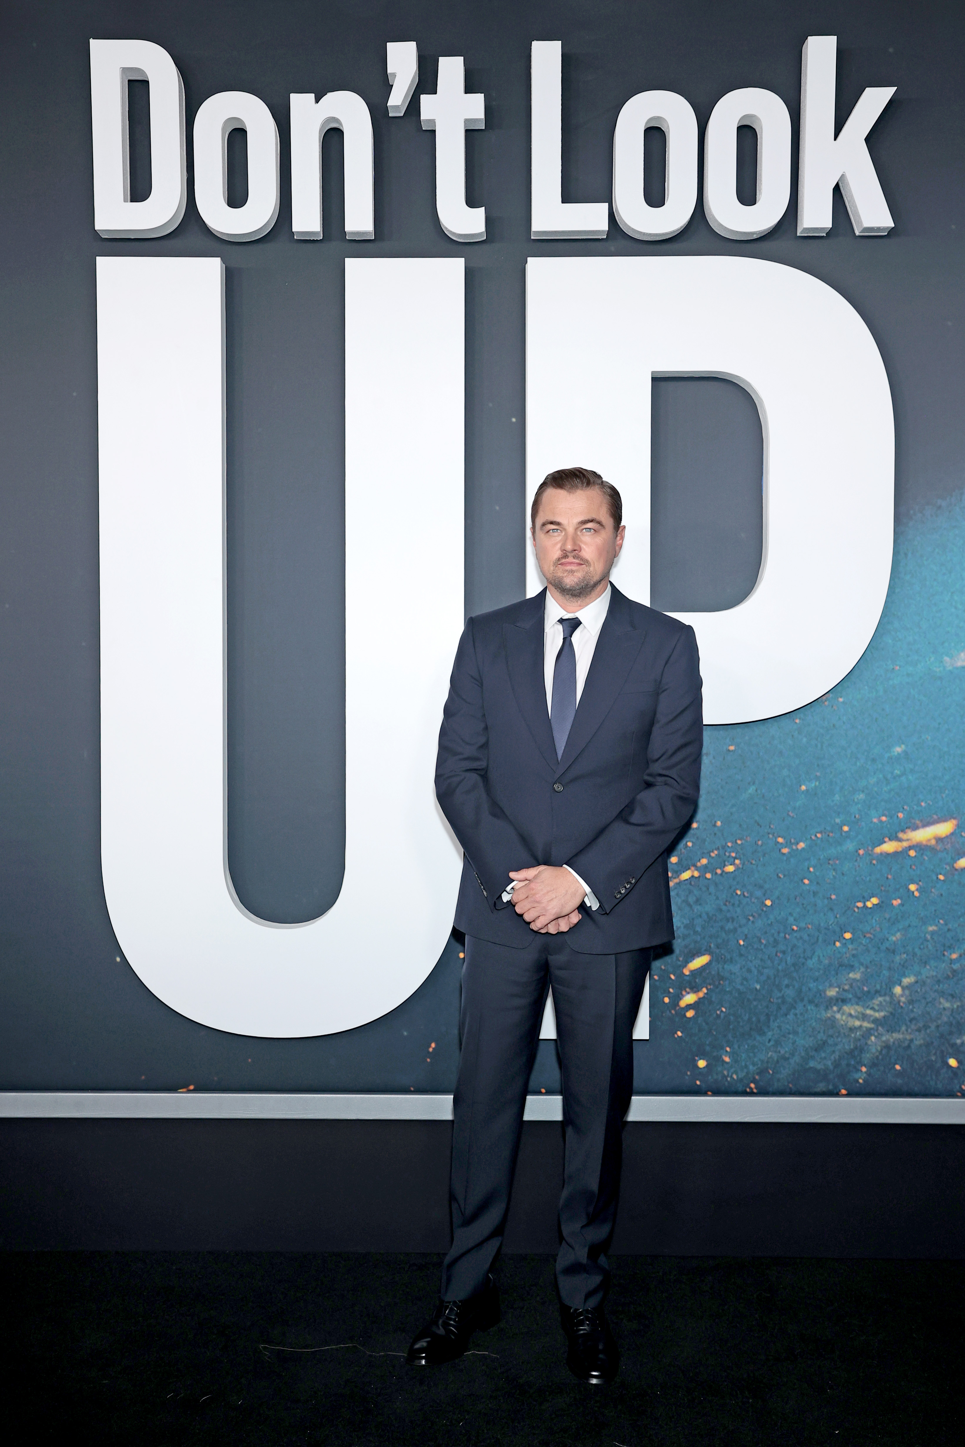
[[[644,135],[657,126],[667,137],[663,205],[644,200]],[[613,214],[628,236],[666,242],[683,232],[697,204],[697,117],[673,91],[631,96],[613,132]]]

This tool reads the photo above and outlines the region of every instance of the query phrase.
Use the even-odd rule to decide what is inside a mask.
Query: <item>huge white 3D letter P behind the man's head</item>
[[[579,356],[579,368],[573,357]],[[527,265],[527,488],[583,459],[624,493],[615,582],[650,599],[654,376],[723,376],[764,431],[764,560],[735,608],[681,614],[707,724],[802,708],[855,666],[891,573],[894,420],[868,327],[825,282],[736,256]],[[528,592],[543,586],[530,557]]]

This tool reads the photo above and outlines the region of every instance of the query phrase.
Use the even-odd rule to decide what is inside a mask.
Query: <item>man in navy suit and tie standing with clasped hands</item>
[[[632,1032],[652,946],[673,939],[667,851],[697,802],[700,674],[693,629],[611,585],[622,502],[599,473],[551,472],[531,537],[547,587],[469,619],[438,741],[435,793],[466,855],[453,1246],[408,1360],[451,1362],[499,1320],[490,1266],[551,985],[566,1123],[560,1312],[567,1366],[602,1383],[619,1362],[605,1249]]]

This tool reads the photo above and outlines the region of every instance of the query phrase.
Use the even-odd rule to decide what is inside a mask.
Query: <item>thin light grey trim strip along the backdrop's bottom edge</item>
[[[30,1120],[451,1120],[451,1095],[227,1091],[0,1091],[0,1117]],[[530,1095],[527,1120],[561,1120],[558,1095]],[[628,1121],[961,1126],[964,1098],[634,1095]]]

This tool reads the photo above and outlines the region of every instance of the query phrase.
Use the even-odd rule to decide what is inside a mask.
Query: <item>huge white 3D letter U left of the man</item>
[[[346,262],[346,870],[307,925],[255,919],[227,868],[223,275],[207,258],[97,262],[104,893],[172,1010],[328,1035],[412,994],[453,923],[462,851],[433,765],[463,627],[463,262]],[[417,648],[385,650],[414,498],[433,606]]]

